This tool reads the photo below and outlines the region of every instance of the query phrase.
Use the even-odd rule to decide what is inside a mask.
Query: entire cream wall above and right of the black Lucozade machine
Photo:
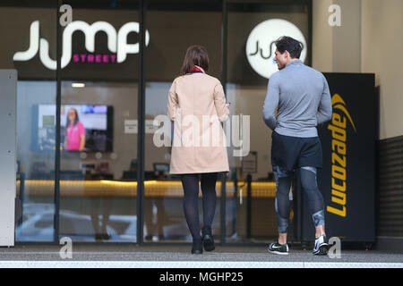
[[[330,4],[340,5],[340,27],[328,23]],[[375,73],[380,139],[403,135],[402,29],[402,0],[313,0],[313,68]]]

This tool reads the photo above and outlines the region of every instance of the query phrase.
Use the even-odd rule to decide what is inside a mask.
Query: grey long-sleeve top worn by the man
[[[316,137],[316,126],[330,121],[331,113],[329,85],[322,72],[295,60],[271,75],[263,105],[263,120],[271,130]]]

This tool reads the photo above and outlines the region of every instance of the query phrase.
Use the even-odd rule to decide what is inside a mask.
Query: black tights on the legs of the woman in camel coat
[[[184,216],[193,240],[201,240],[199,222],[199,174],[186,173],[181,175],[184,187]],[[201,192],[203,202],[203,224],[211,227],[216,211],[217,172],[201,173]]]

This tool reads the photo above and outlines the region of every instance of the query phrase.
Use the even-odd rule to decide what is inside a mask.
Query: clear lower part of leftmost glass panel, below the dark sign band
[[[39,120],[38,107],[56,114],[56,83],[20,80],[17,86],[17,198],[21,218],[15,240],[54,240],[55,116]],[[40,134],[40,140],[38,135]]]

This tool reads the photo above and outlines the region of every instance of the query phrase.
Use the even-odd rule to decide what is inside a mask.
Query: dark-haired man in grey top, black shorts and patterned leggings
[[[316,231],[313,254],[325,255],[329,245],[324,230],[324,201],[316,178],[317,168],[322,168],[322,145],[316,127],[331,119],[329,86],[321,72],[299,60],[302,46],[296,39],[282,37],[275,43],[274,60],[279,71],[270,77],[263,105],[263,120],[273,130],[271,164],[276,178],[279,231],[279,240],[270,244],[269,251],[288,254],[288,195],[298,168]]]

